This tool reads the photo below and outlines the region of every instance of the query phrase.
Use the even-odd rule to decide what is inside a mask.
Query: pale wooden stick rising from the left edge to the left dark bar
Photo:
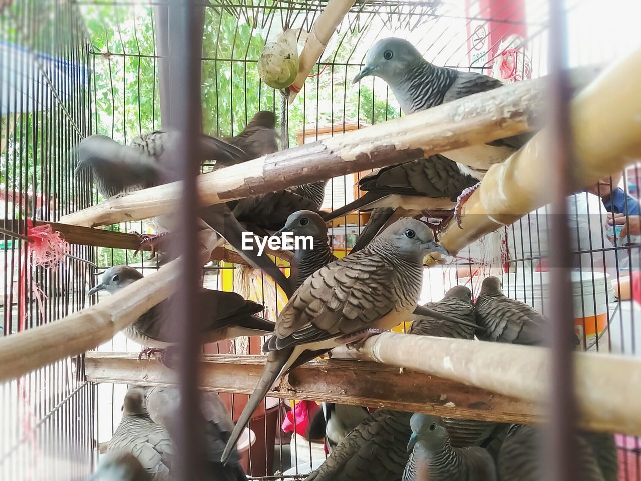
[[[63,319],[0,338],[0,382],[109,341],[176,291],[180,258]]]

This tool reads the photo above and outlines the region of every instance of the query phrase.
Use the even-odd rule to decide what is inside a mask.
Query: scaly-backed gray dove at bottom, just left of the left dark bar
[[[122,404],[122,420],[109,441],[107,453],[127,451],[154,481],[171,479],[174,444],[169,432],[149,417],[142,389],[130,389]]]

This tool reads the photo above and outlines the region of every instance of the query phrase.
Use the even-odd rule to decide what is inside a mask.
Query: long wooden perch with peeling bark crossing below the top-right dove
[[[513,83],[203,174],[197,180],[201,205],[408,162],[533,130],[544,107],[544,87],[544,79]],[[86,227],[138,221],[173,212],[180,198],[179,183],[170,183],[110,199],[65,215],[61,221]]]

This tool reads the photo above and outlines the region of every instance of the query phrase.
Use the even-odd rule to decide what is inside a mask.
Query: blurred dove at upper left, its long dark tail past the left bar
[[[98,191],[105,199],[154,187],[162,181],[178,180],[177,174],[171,171],[169,162],[178,140],[179,132],[172,130],[146,133],[133,139],[129,146],[122,146],[104,135],[92,135],[76,146],[78,164],[74,174],[78,175],[85,169],[91,169]],[[203,158],[199,160],[215,159],[227,164],[248,160],[244,151],[215,137],[202,135],[201,148]],[[200,214],[201,226],[212,228],[219,233],[250,264],[269,274],[283,287],[288,296],[291,295],[287,278],[267,255],[258,255],[256,250],[242,249],[244,228],[231,214],[227,205],[206,207]],[[152,257],[155,247],[166,237],[167,232],[172,230],[173,221],[172,215],[151,219],[151,224],[158,233],[140,236],[141,245],[149,244],[153,248]]]

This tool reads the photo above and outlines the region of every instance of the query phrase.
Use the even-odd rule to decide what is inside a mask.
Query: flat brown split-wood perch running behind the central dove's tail
[[[202,389],[251,394],[265,356],[203,355],[199,367]],[[171,369],[155,360],[138,361],[133,353],[88,352],[85,373],[89,381],[115,384],[172,385],[177,380]],[[373,362],[315,359],[285,376],[269,396],[506,423],[537,417],[531,403]]]

